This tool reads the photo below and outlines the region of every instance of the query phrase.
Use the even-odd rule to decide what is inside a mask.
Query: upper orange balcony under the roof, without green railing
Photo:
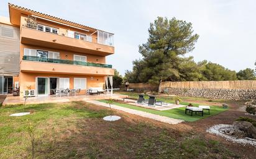
[[[76,39],[75,37],[71,38],[66,37],[65,35],[58,35],[58,32],[43,32],[34,28],[21,27],[21,43],[27,45],[37,45],[53,49],[64,49],[68,51],[76,51],[79,53],[96,54],[99,56],[114,54],[113,46],[93,43],[90,41],[91,38],[80,40]]]

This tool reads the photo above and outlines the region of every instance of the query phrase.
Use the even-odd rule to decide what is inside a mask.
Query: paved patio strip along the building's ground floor
[[[126,98],[127,95],[119,94],[101,94],[101,95],[76,95],[76,96],[63,96],[55,97],[55,95],[47,95],[40,97],[30,97],[27,99],[26,104],[39,104],[39,103],[60,103],[69,101],[87,101],[87,100],[103,100],[103,99],[117,99]],[[24,104],[25,99],[19,96],[7,95],[2,105],[21,105]]]

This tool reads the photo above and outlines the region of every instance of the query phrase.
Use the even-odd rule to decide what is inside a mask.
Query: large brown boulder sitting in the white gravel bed
[[[244,132],[245,137],[250,137],[252,139],[256,139],[256,128],[254,125],[248,121],[235,121],[233,122],[232,134]]]

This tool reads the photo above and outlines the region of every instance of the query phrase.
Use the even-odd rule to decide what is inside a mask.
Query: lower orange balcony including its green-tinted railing
[[[114,69],[112,69],[112,65],[109,64],[39,58],[37,56],[23,56],[21,61],[21,72],[114,75]]]

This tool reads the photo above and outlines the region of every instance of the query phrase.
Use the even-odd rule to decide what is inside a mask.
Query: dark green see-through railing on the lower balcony
[[[22,59],[26,61],[39,61],[39,62],[50,62],[50,63],[56,63],[56,64],[73,64],[73,65],[80,65],[80,66],[112,68],[111,64],[98,64],[93,62],[71,61],[66,59],[40,58],[37,56],[23,56]]]

